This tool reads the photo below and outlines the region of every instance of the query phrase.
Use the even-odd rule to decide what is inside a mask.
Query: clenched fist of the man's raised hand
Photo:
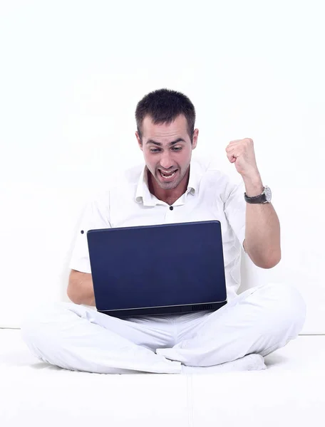
[[[229,162],[234,163],[237,172],[244,179],[255,179],[259,176],[252,139],[235,139],[229,142],[226,152]]]

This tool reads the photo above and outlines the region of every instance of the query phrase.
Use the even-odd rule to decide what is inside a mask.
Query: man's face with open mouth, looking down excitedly
[[[191,144],[184,115],[179,115],[170,125],[154,125],[151,117],[145,117],[142,142],[138,132],[135,135],[143,151],[145,164],[160,188],[171,190],[180,184],[190,165],[198,132],[195,129]]]

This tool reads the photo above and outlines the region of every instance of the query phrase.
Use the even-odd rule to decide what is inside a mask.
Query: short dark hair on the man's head
[[[192,137],[195,125],[195,107],[190,99],[175,90],[158,89],[145,95],[138,102],[135,109],[135,120],[140,139],[142,140],[143,120],[148,115],[155,125],[167,123],[169,125],[179,115],[185,115],[187,132]]]

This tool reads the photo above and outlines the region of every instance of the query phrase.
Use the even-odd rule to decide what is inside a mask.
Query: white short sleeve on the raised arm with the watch
[[[244,199],[244,192],[244,182],[240,182],[239,184],[232,184],[229,182],[226,191],[227,199],[225,201],[225,215],[243,250],[246,223],[246,201]]]

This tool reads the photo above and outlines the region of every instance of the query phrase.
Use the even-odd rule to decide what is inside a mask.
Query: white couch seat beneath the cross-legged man
[[[0,425],[323,426],[325,336],[300,336],[264,371],[105,375],[38,361],[0,330]],[[172,423],[170,423],[172,421]]]

